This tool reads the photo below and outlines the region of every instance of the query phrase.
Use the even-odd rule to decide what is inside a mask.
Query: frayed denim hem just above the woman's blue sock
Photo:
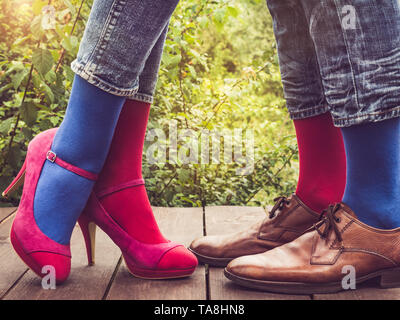
[[[133,96],[139,89],[139,86],[136,85],[134,88],[119,88],[115,85],[108,83],[107,81],[97,77],[96,75],[88,72],[85,68],[85,65],[79,63],[77,60],[72,61],[71,69],[75,72],[78,76],[85,79],[90,84],[98,87],[99,89],[111,93],[116,96],[121,97],[129,97]]]

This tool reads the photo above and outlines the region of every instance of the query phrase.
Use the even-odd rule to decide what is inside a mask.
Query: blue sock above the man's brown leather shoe
[[[343,202],[376,228],[400,227],[400,118],[342,128],[347,157]]]

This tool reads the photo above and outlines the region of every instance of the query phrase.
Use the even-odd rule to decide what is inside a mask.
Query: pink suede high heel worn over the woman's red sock
[[[92,192],[86,208],[78,222],[85,237],[89,264],[94,261],[94,231],[89,231],[90,223],[99,226],[120,247],[125,263],[132,275],[145,279],[169,279],[191,275],[196,266],[195,256],[187,255],[187,249],[183,245],[169,241],[166,243],[143,243],[130,236],[112,217],[100,203],[100,198],[125,188],[143,185],[142,179],[136,179],[113,188],[107,188],[100,192]],[[184,251],[185,263],[178,261],[177,265],[163,262],[172,251]],[[180,252],[179,252],[180,253]],[[176,260],[176,259],[175,259]]]

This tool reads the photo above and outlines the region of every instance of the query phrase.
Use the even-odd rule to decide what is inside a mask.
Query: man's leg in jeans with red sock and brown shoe
[[[240,234],[207,236],[190,249],[200,261],[225,266],[233,258],[265,252],[299,237],[320,212],[343,196],[346,168],[340,129],[328,113],[313,41],[297,0],[270,0],[287,107],[300,156],[296,193],[277,199],[271,219]],[[274,217],[278,216],[276,219]]]

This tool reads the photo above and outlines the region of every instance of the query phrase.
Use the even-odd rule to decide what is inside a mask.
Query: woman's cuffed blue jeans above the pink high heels
[[[152,102],[179,0],[95,0],[72,70],[111,94]]]

